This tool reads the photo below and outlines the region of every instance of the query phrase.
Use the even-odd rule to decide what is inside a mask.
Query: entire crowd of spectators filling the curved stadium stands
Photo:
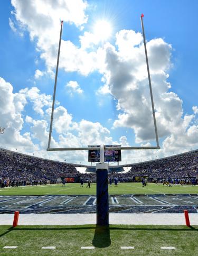
[[[0,149],[0,186],[26,186],[54,184],[61,177],[96,182],[96,173],[80,173],[73,164],[52,161]],[[135,177],[148,180],[198,177],[198,150],[133,164],[126,173],[110,173],[109,178],[119,182],[135,181]]]

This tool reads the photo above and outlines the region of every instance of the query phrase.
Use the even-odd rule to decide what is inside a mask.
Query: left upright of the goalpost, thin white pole
[[[59,56],[60,56],[60,49],[61,49],[62,26],[63,26],[63,21],[61,21],[61,31],[60,31],[60,39],[59,39],[59,51],[58,51],[58,58],[57,58],[56,71],[55,71],[54,94],[53,94],[53,102],[52,102],[52,114],[51,114],[51,121],[50,121],[50,133],[49,133],[49,140],[48,140],[48,148],[50,148],[51,135],[52,135],[52,122],[53,122],[53,115],[54,115],[56,83],[57,83],[58,70],[59,70]]]

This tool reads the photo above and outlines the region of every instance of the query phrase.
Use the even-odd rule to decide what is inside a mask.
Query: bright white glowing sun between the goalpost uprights
[[[100,20],[93,26],[93,33],[98,41],[106,41],[111,36],[111,24],[106,20]]]

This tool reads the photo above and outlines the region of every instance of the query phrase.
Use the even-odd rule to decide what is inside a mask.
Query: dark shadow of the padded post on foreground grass
[[[96,225],[95,234],[92,241],[93,246],[97,248],[106,248],[110,246],[110,228],[108,226]]]

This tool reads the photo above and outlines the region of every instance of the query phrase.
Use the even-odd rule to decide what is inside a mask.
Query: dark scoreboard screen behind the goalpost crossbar
[[[88,147],[99,147],[99,145],[96,146],[88,146]],[[105,147],[121,147],[120,145],[106,145]],[[105,162],[121,162],[121,150],[120,149],[114,149],[114,150],[108,150],[105,149]],[[89,150],[89,162],[100,162],[100,150]]]

